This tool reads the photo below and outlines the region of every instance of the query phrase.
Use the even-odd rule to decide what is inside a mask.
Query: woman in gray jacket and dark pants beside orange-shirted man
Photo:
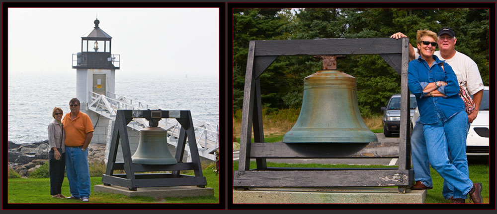
[[[64,153],[66,145],[64,144],[64,128],[61,122],[62,108],[55,107],[52,111],[54,121],[48,125],[48,144],[50,152],[48,153],[48,165],[50,173],[50,195],[52,198],[66,198],[62,195],[62,181],[64,181],[64,170],[66,169],[66,159]]]

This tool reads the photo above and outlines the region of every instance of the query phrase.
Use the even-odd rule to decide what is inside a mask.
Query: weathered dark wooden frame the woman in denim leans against
[[[315,39],[250,41],[245,76],[242,132],[234,187],[381,187],[397,186],[405,193],[413,184],[408,90],[409,39]],[[399,144],[264,143],[259,76],[280,55],[379,54],[401,75]],[[382,72],[382,71],[378,71]],[[254,143],[251,142],[253,125]],[[250,169],[250,159],[256,168]],[[334,169],[270,168],[266,159],[398,158],[399,168]]]

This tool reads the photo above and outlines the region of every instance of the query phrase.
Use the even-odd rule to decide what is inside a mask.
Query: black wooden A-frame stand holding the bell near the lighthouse
[[[146,118],[148,120],[150,118],[176,118],[181,124],[175,154],[175,159],[178,161],[176,164],[148,165],[132,162],[126,126],[133,118]],[[192,162],[182,162],[187,137]],[[121,141],[124,163],[115,162],[119,141]],[[106,186],[117,185],[136,191],[137,187],[190,185],[205,187],[207,185],[207,180],[202,175],[200,156],[198,155],[195,131],[189,110],[117,110],[108,158],[107,169],[102,176],[102,183]],[[126,174],[114,174],[114,170],[119,169],[124,169]],[[193,170],[195,176],[180,174],[181,170]],[[171,171],[171,173],[135,174],[135,172],[151,171]]]

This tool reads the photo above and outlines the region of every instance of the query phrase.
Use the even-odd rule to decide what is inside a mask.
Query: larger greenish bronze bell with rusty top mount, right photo
[[[324,60],[323,70],[304,78],[299,118],[283,143],[369,143],[376,135],[362,120],[356,79],[336,69],[336,56]]]

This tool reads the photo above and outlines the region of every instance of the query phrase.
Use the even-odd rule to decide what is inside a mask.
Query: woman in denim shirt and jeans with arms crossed
[[[408,69],[409,90],[416,96],[428,159],[443,179],[454,186],[455,200],[464,203],[470,194],[474,203],[481,203],[482,184],[469,179],[468,115],[458,96],[459,84],[454,71],[433,55],[436,42],[436,33],[417,31],[419,57],[409,62]]]

